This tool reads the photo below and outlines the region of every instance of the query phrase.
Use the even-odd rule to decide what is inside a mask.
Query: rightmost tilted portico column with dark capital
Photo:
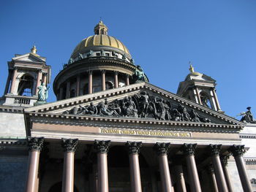
[[[246,152],[246,150],[244,150],[244,145],[233,145],[232,147],[230,147],[230,152],[235,158],[238,174],[244,192],[252,192],[252,186],[251,183],[249,182],[243,159],[243,154]]]

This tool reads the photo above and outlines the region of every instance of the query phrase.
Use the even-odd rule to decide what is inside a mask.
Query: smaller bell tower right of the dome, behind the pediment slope
[[[216,80],[206,74],[195,72],[192,64],[190,64],[189,71],[186,79],[179,83],[177,94],[195,101],[197,104],[222,112],[215,89]]]

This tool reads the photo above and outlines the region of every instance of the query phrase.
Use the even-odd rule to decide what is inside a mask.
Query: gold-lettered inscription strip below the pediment
[[[139,135],[151,137],[192,137],[190,132],[179,131],[151,131],[151,130],[128,130],[118,128],[101,128],[102,134]]]

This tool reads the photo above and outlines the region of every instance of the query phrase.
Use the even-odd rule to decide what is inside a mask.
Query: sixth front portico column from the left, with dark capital
[[[189,180],[190,180],[190,189],[192,192],[201,192],[200,181],[197,173],[197,166],[195,164],[195,149],[197,144],[187,144],[181,147],[183,151],[186,163],[187,163],[187,171],[189,172]]]

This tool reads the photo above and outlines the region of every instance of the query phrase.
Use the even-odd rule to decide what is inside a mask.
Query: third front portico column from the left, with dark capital
[[[97,151],[97,168],[98,168],[98,191],[108,192],[108,150],[110,141],[97,141],[94,142],[94,147]]]

